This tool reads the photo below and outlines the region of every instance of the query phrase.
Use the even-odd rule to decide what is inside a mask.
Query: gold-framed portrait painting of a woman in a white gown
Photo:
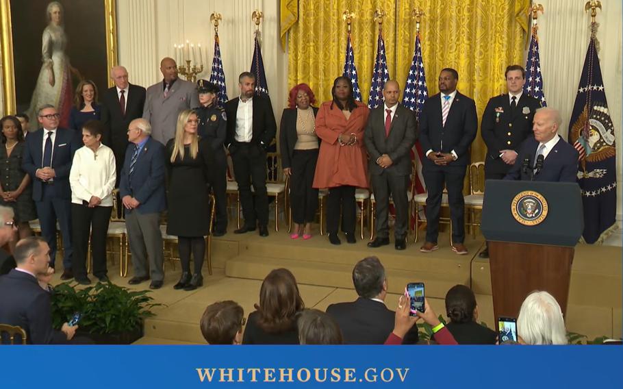
[[[2,47],[5,113],[25,112],[36,123],[38,108],[51,104],[67,127],[80,81],[92,80],[101,92],[109,86],[114,0],[0,1],[2,33],[10,32]]]

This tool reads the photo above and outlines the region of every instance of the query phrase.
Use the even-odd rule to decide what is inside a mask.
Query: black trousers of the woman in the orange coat
[[[329,234],[338,234],[340,208],[342,208],[342,232],[355,234],[357,202],[354,186],[329,188],[329,194],[327,194],[327,232]]]

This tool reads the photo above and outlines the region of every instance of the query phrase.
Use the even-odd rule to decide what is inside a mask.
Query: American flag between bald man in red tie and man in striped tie
[[[420,121],[420,113],[424,107],[424,101],[428,99],[429,92],[426,86],[426,75],[424,74],[424,62],[422,62],[422,44],[420,43],[420,34],[416,34],[416,48],[414,49],[414,58],[411,61],[409,75],[405,82],[405,92],[403,92],[403,105],[409,110],[415,112],[416,122]],[[411,151],[411,159],[416,160],[416,192],[426,192],[424,185],[424,176],[422,175],[422,146],[420,141],[416,142],[414,149]]]

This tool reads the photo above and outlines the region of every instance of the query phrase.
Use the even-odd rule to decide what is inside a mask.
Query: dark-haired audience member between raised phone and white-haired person
[[[465,285],[456,285],[446,293],[446,324],[459,344],[496,344],[496,332],[478,323],[476,296]]]

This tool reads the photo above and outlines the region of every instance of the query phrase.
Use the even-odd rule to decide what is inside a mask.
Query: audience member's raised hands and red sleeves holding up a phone
[[[405,338],[405,334],[418,328],[415,324],[420,318],[433,327],[433,338],[435,342],[447,345],[458,344],[452,334],[450,334],[450,331],[444,326],[444,323],[439,320],[427,299],[424,298],[424,313],[418,311],[416,312],[418,316],[411,316],[409,315],[410,311],[411,304],[409,303],[409,297],[401,296],[400,299],[398,299],[398,308],[396,308],[394,330],[390,336],[387,336],[385,344],[404,344],[403,338]]]

